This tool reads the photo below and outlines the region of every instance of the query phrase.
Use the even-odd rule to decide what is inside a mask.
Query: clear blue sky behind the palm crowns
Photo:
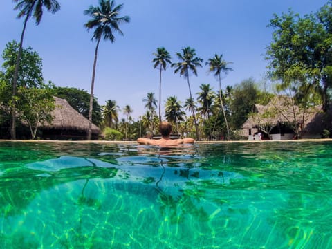
[[[46,81],[57,86],[76,87],[90,92],[95,42],[92,31],[83,24],[89,17],[83,11],[97,0],[58,0],[61,10],[55,15],[44,12],[41,24],[35,26],[30,19],[24,38],[24,47],[31,46],[43,59]],[[234,86],[253,77],[261,82],[266,73],[264,55],[272,41],[272,28],[268,28],[273,13],[281,15],[291,8],[300,15],[316,12],[327,0],[117,0],[124,3],[122,16],[129,15],[129,24],[122,24],[124,36],[116,34],[114,43],[102,41],[99,48],[95,77],[95,97],[103,105],[116,100],[120,109],[129,104],[137,119],[145,113],[142,99],[153,92],[158,99],[159,76],[151,60],[156,48],[164,46],[178,62],[175,53],[190,46],[204,59],[215,53],[232,62],[233,71],[222,80]],[[19,41],[23,19],[16,19],[15,3],[1,3],[1,53],[13,39]],[[3,60],[0,59],[0,64]],[[199,86],[210,84],[216,91],[219,83],[208,68],[198,69],[190,84],[196,98]],[[174,75],[174,68],[163,71],[162,106],[167,97],[176,95],[185,102],[189,97],[187,82]],[[120,115],[121,117],[122,115]]]

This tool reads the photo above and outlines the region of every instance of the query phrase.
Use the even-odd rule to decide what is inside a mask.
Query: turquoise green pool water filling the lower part
[[[332,248],[332,142],[0,142],[0,248]]]

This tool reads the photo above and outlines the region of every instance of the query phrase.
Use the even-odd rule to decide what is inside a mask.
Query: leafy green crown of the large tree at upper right
[[[329,108],[332,87],[332,1],[315,15],[300,17],[291,10],[270,20],[273,41],[266,51],[269,74],[279,80],[279,91],[296,84],[297,100],[313,101],[320,95],[323,110]],[[293,86],[292,86],[293,85]]]

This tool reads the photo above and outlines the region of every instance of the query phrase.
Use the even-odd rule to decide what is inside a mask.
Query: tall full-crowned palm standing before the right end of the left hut
[[[115,6],[113,0],[100,0],[99,6],[89,6],[87,10],[84,10],[84,15],[89,15],[92,17],[84,27],[89,31],[94,29],[93,37],[91,40],[96,40],[97,44],[95,46],[95,59],[93,61],[93,70],[92,70],[92,80],[91,80],[91,93],[90,93],[90,107],[89,107],[89,132],[88,140],[91,140],[91,127],[92,127],[92,111],[93,111],[93,89],[95,85],[95,67],[97,64],[98,57],[98,47],[100,40],[110,40],[112,43],[115,42],[116,37],[114,37],[114,32],[123,35],[122,31],[119,28],[119,24],[122,22],[129,22],[130,17],[118,17],[120,10],[122,9],[123,4]]]

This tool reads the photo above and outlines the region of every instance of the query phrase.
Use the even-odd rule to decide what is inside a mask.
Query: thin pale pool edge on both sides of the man
[[[195,141],[196,144],[223,144],[223,143],[255,143],[255,142],[331,142],[332,138],[320,139],[298,139],[298,140],[235,140],[235,141]],[[107,141],[107,140],[1,140],[0,142],[73,142],[80,144],[95,143],[95,144],[127,144],[137,145],[136,141]]]

